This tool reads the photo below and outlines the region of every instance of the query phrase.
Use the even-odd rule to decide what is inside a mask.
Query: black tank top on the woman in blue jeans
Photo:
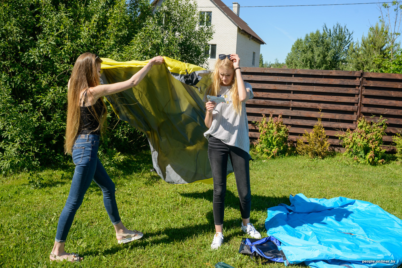
[[[86,96],[86,92],[85,92]],[[80,106],[81,120],[77,134],[96,134],[100,135],[99,121],[96,120],[94,111],[99,117],[102,117],[105,108],[102,100],[98,98],[95,104],[91,106]]]

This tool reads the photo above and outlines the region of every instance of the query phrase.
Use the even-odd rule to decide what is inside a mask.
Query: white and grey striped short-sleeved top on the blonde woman
[[[246,89],[250,90],[250,99],[254,97],[252,93],[251,85],[244,82]],[[223,143],[231,146],[239,147],[244,151],[250,151],[250,140],[248,138],[248,122],[246,114],[246,103],[242,103],[242,111],[236,114],[232,98],[230,97],[231,86],[221,86],[217,97],[223,97],[226,103],[220,102],[216,104],[212,111],[212,125],[204,133],[204,136],[209,139],[209,135],[220,139]],[[207,95],[209,94],[206,90],[203,102],[207,102]]]

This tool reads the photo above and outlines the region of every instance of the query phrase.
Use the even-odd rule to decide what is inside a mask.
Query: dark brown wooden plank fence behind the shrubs
[[[388,120],[383,140],[389,151],[392,135],[402,129],[402,74],[243,67],[242,76],[254,92],[246,103],[251,143],[260,135],[252,122],[271,113],[282,113],[283,123],[291,125],[289,140],[296,141],[312,130],[321,110],[329,142],[339,151],[336,133],[355,129],[361,116]]]

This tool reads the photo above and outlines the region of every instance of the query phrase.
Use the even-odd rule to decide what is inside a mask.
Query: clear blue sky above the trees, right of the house
[[[266,45],[260,52],[264,61],[284,62],[287,53],[297,38],[319,29],[326,23],[332,28],[337,22],[353,31],[353,40],[361,40],[367,35],[370,25],[380,16],[378,4],[359,4],[344,6],[295,6],[295,7],[242,7],[276,6],[297,4],[344,4],[366,3],[375,0],[222,0],[232,7],[232,2],[240,4],[240,18],[261,37]],[[230,51],[229,51],[230,52]]]

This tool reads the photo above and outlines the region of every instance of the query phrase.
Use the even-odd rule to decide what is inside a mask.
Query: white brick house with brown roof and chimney
[[[163,0],[154,0],[155,8]],[[240,57],[241,67],[258,67],[260,62],[260,45],[265,44],[239,16],[240,5],[233,2],[233,10],[221,0],[197,1],[199,12],[205,16],[204,23],[211,23],[215,33],[209,41],[210,48],[208,68],[213,69],[219,54],[236,53]]]

